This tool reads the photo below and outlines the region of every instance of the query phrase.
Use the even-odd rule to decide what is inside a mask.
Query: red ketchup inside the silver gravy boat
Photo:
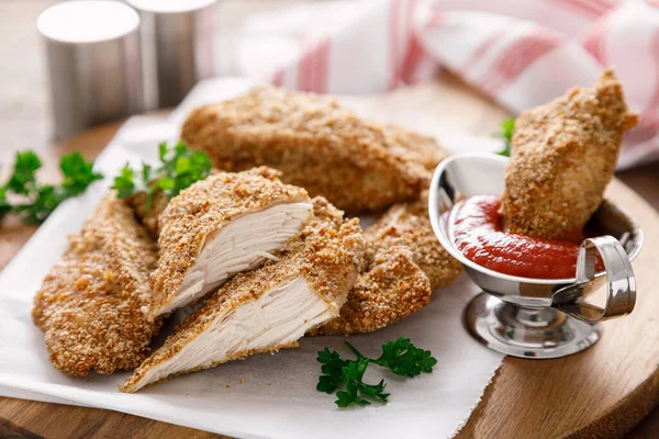
[[[467,259],[500,273],[534,279],[574,278],[581,239],[549,240],[503,232],[496,195],[457,206],[454,239]],[[601,269],[601,263],[597,268]]]

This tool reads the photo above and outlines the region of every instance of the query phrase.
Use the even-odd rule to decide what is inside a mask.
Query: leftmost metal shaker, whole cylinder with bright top
[[[110,0],[58,3],[38,16],[56,138],[144,111],[138,29],[137,12]]]

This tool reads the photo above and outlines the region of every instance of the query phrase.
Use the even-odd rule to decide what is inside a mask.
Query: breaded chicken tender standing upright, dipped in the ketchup
[[[623,134],[636,122],[612,70],[592,88],[521,114],[501,198],[504,228],[546,239],[581,233],[613,177]]]

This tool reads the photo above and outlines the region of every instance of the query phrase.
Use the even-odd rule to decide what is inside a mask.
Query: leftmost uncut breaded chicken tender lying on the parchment
[[[32,317],[57,369],[109,374],[146,358],[159,327],[147,315],[155,266],[156,243],[110,193],[70,237],[34,301]]]

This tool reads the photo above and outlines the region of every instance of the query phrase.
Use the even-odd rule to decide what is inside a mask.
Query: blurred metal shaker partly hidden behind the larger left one
[[[197,81],[213,76],[216,0],[126,1],[142,18],[147,106],[175,106]]]

